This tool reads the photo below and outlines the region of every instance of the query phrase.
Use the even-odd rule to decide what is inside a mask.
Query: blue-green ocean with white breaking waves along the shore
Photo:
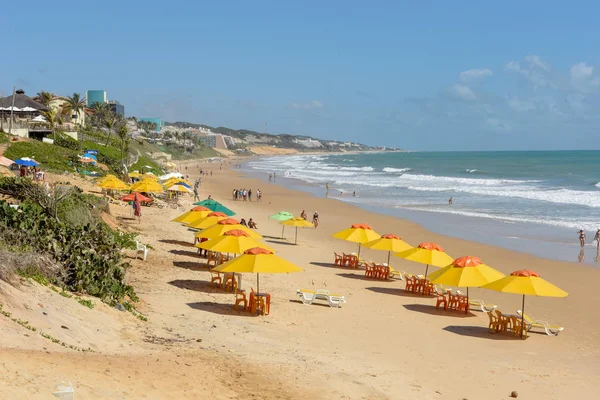
[[[580,260],[584,229],[590,254],[581,261],[596,262],[600,151],[294,155],[247,167],[316,195],[329,184],[329,197],[547,258]]]

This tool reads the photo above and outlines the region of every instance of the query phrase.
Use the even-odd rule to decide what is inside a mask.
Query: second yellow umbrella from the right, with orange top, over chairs
[[[502,272],[482,263],[479,258],[464,256],[452,261],[450,265],[432,272],[427,279],[431,283],[440,285],[466,287],[468,303],[470,287],[480,287],[503,277]],[[465,309],[466,312],[467,309]]]

